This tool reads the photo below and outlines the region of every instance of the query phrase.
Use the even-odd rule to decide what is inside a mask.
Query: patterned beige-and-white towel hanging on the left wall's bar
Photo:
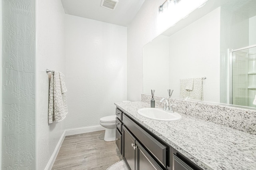
[[[50,79],[48,123],[62,121],[68,113],[65,76],[54,71]]]

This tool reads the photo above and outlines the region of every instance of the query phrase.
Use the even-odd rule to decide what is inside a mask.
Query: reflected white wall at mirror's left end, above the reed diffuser
[[[168,96],[169,89],[169,40],[160,35],[143,48],[143,93]]]

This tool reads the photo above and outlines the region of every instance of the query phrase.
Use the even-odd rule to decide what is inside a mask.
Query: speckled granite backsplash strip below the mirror
[[[159,103],[162,97],[155,96],[154,99],[156,107],[162,107],[161,103]],[[151,95],[141,95],[142,102],[150,103],[150,100]],[[173,108],[178,113],[256,134],[255,111],[181,99],[170,99],[170,103],[176,103]]]

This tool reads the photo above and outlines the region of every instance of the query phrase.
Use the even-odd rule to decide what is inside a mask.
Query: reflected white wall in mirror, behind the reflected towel
[[[207,77],[204,101],[220,102],[220,8],[170,36],[170,89],[180,97],[180,79]]]

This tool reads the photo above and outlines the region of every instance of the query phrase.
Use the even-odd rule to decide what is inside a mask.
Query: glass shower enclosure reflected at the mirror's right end
[[[230,104],[256,107],[256,45],[230,51]]]

